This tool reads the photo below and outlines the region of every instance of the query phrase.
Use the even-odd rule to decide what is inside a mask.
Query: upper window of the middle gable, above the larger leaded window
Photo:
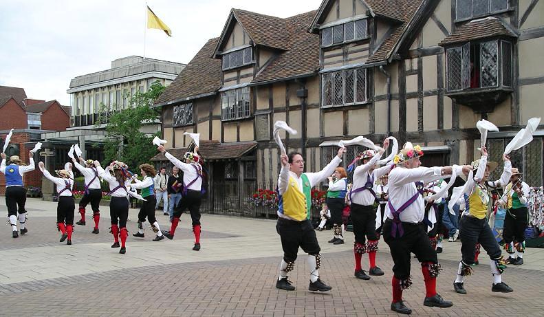
[[[367,19],[349,21],[321,30],[321,47],[367,39]]]

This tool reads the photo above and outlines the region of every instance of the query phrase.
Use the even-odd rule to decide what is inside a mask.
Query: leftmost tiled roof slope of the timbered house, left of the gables
[[[212,58],[218,38],[210,39],[155,101],[155,106],[209,94],[221,87],[221,60]]]

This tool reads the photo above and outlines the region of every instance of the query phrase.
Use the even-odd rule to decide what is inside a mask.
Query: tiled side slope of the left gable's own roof
[[[232,9],[236,19],[255,45],[287,50],[289,48],[289,25],[286,19],[272,17],[241,9]]]

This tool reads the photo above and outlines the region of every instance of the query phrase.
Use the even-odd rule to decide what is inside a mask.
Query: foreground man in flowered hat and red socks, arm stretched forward
[[[426,295],[423,305],[429,307],[450,307],[452,302],[444,300],[436,292],[436,277],[441,270],[437,255],[427,237],[424,220],[424,187],[422,182],[432,182],[453,173],[452,166],[420,167],[423,151],[410,142],[395,155],[396,168],[389,173],[389,202],[385,214],[384,241],[389,245],[393,258],[393,302],[391,310],[400,314],[411,314],[404,305],[402,291],[411,286],[410,253],[413,252],[422,263]],[[458,166],[461,169],[461,166]],[[470,166],[463,166],[468,173]]]

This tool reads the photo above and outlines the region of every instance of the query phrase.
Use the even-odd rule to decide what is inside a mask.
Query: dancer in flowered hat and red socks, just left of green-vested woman
[[[111,218],[111,234],[113,234],[113,245],[111,248],[119,248],[120,254],[125,254],[127,248],[127,218],[129,217],[129,199],[127,199],[127,178],[129,176],[127,164],[123,162],[113,161],[106,169],[100,166],[98,161],[94,161],[94,166],[98,171],[98,175],[109,183],[109,217]],[[121,245],[119,245],[121,238]]]

